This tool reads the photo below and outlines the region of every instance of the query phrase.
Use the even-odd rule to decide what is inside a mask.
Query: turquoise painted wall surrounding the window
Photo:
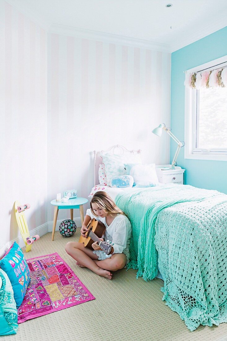
[[[184,72],[227,55],[227,27],[187,45],[171,56],[171,128],[179,140],[184,140]],[[171,141],[170,161],[177,144]],[[177,163],[186,169],[185,183],[195,187],[216,189],[227,193],[227,161],[184,159],[181,149]]]

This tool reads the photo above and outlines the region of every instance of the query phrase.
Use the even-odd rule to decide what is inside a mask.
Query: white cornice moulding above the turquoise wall
[[[227,16],[225,15],[224,17],[221,17],[220,19],[214,21],[213,23],[203,26],[201,29],[186,35],[184,39],[177,41],[175,44],[171,44],[170,51],[172,53],[174,51],[181,49],[182,47],[195,43],[196,41],[205,38],[206,36],[218,30],[221,30],[222,28],[226,27],[226,25]]]

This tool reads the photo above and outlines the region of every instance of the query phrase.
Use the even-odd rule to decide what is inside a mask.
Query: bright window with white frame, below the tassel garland
[[[190,72],[222,69],[227,56]],[[185,158],[227,160],[227,86],[185,87]]]

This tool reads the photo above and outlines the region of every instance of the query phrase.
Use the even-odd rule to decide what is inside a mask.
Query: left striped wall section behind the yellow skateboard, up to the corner
[[[0,1],[0,246],[20,233],[11,211],[30,203],[33,229],[47,220],[47,33]]]

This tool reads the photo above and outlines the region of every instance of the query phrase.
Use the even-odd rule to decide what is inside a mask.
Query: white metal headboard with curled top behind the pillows
[[[100,156],[100,153],[112,153],[112,154],[140,154],[141,150],[128,150],[127,148],[125,148],[124,146],[121,145],[115,145],[110,147],[107,150],[101,150],[96,152],[94,150],[94,186],[97,185],[99,183],[99,164],[102,163],[102,158]]]

